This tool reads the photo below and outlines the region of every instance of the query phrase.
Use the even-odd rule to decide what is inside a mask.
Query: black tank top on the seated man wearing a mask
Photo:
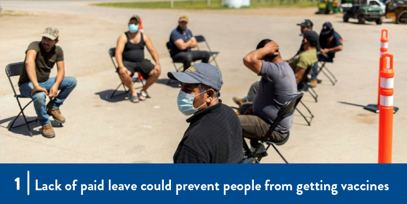
[[[140,33],[141,39],[138,44],[133,44],[130,42],[129,34],[126,32],[127,43],[123,50],[123,60],[130,62],[140,62],[144,60],[144,39],[143,34]]]

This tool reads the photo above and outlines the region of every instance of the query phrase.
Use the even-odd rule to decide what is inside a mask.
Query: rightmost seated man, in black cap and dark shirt
[[[321,45],[321,55],[318,56],[318,60],[322,62],[333,62],[335,52],[343,49],[342,38],[334,31],[330,22],[323,24],[319,44]]]

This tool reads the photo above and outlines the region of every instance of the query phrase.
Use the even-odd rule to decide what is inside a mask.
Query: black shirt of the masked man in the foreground
[[[219,103],[187,119],[174,163],[239,163],[243,160],[242,126],[235,111]]]

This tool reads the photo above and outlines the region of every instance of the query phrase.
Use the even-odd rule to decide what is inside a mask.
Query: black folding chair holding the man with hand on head
[[[268,141],[268,140],[269,140],[271,134],[273,133],[273,131],[275,131],[277,125],[281,122],[281,120],[284,119],[285,117],[289,116],[289,115],[294,114],[294,111],[296,110],[296,107],[297,107],[298,103],[301,101],[302,97],[303,97],[303,93],[299,93],[295,97],[293,97],[292,99],[290,99],[290,100],[288,100],[287,102],[284,103],[284,105],[278,111],[277,118],[274,120],[273,125],[270,126],[270,128],[267,131],[266,135],[260,141],[261,144],[263,144],[263,143],[267,144],[266,151],[269,150],[270,145],[273,146],[274,150],[276,150],[276,152],[280,155],[280,157],[284,160],[285,163],[288,163],[287,160],[277,150],[275,145],[283,145],[283,144],[285,144],[285,142],[288,141],[289,132],[288,132],[287,136],[284,138],[284,140],[282,140],[280,142],[271,142],[271,141]],[[258,145],[257,149],[252,153],[250,151],[249,146],[247,145],[245,140],[243,140],[243,143],[244,143],[244,149],[245,149],[245,152],[246,152],[246,156],[248,158],[250,158],[250,157],[255,158],[254,155],[256,155],[256,153],[260,149],[260,145]],[[260,162],[261,158],[263,158],[263,157],[257,157],[256,159],[257,159],[258,162]]]

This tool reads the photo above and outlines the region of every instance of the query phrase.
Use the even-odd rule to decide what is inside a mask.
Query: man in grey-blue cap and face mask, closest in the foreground
[[[223,84],[218,68],[197,63],[184,72],[168,72],[181,82],[178,109],[193,114],[173,156],[174,163],[239,163],[243,160],[242,127],[230,107],[218,98]]]

